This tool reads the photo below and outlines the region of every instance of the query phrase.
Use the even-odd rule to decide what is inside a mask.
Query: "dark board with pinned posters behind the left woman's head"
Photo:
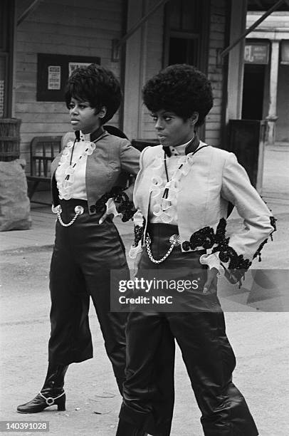
[[[100,65],[100,58],[38,53],[36,100],[63,102],[65,83],[70,74],[75,68],[90,63]]]

